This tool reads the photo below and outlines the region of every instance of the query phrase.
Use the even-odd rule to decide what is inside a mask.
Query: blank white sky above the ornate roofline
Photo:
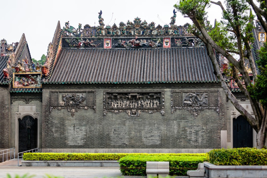
[[[169,24],[173,16],[174,4],[178,0],[0,0],[0,40],[7,44],[19,42],[22,34],[26,36],[31,57],[40,60],[46,55],[47,46],[52,41],[57,22],[61,28],[65,22],[78,28],[79,23],[98,26],[98,12],[102,10],[105,25],[119,26],[122,21],[134,21],[139,17],[155,26]],[[220,19],[222,11],[212,5],[209,20],[214,23]],[[112,15],[113,14],[113,15]],[[176,25],[191,23],[179,12]]]

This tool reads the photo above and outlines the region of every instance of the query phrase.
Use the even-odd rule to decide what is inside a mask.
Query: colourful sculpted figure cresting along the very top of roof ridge
[[[106,36],[159,36],[159,35],[168,35],[168,36],[192,36],[187,33],[188,24],[183,26],[175,25],[176,22],[176,11],[174,10],[174,15],[171,17],[171,23],[169,25],[158,25],[155,28],[155,23],[151,22],[148,24],[145,20],[142,21],[141,18],[134,18],[134,22],[128,20],[127,23],[120,22],[117,26],[115,23],[110,26],[103,23],[104,19],[102,18],[102,11],[98,12],[98,22],[99,26],[91,27],[90,25],[85,25],[82,29],[82,24],[79,24],[79,27],[76,29],[73,26],[70,26],[69,21],[65,22],[65,27],[63,27],[63,37],[106,37]]]

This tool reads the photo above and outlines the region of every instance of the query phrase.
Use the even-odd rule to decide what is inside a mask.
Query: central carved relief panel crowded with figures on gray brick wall
[[[139,116],[141,112],[165,114],[163,92],[104,92],[103,96],[104,115],[107,112],[126,112],[129,116]]]

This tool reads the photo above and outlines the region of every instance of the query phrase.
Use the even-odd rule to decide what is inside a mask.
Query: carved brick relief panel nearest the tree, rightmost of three
[[[213,109],[220,113],[219,96],[219,91],[172,91],[172,113],[176,110],[187,110],[194,117],[197,117],[204,109]]]

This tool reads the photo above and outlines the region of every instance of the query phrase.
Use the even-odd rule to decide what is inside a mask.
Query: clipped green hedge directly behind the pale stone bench
[[[124,176],[146,176],[146,161],[168,161],[171,176],[186,176],[188,170],[197,169],[198,163],[208,161],[208,154],[130,155],[120,159],[121,173]]]

